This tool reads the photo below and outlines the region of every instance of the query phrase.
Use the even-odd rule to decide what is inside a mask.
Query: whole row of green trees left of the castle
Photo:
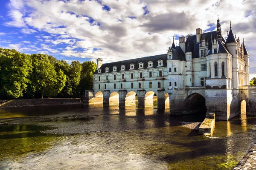
[[[93,88],[96,66],[0,48],[0,99],[79,97]]]

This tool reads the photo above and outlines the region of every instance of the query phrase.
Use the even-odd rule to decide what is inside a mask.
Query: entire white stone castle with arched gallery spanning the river
[[[179,42],[173,42],[167,54],[104,64],[97,59],[86,102],[131,106],[137,100],[137,107],[145,108],[157,96],[157,108],[169,108],[171,115],[199,108],[221,120],[238,115],[241,95],[248,93],[243,94],[242,87],[249,85],[249,54],[231,22],[227,39],[218,19],[217,31],[202,33],[197,28],[195,35],[179,37]]]

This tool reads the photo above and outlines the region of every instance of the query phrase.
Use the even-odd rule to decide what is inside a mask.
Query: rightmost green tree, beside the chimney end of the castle
[[[79,83],[81,94],[85,90],[93,88],[93,73],[96,71],[97,65],[95,62],[86,61],[82,63],[81,80]]]

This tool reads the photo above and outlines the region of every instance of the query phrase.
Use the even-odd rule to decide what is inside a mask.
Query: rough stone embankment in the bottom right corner
[[[233,170],[256,170],[256,143],[253,144]]]

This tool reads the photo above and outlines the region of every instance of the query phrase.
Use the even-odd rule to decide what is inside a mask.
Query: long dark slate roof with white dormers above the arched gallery
[[[160,54],[156,56],[149,56],[149,57],[142,57],[142,58],[136,58],[136,59],[128,59],[128,60],[123,60],[123,61],[118,61],[118,62],[110,62],[110,63],[105,63],[102,64],[101,68],[101,73],[105,73],[105,68],[109,68],[108,73],[113,72],[113,66],[117,67],[117,71],[121,71],[121,65],[125,65],[125,71],[130,70],[130,64],[134,64],[134,70],[139,69],[139,63],[142,62],[144,64],[144,68],[148,68],[148,62],[151,61],[153,62],[153,68],[157,68],[158,65],[158,60],[161,59],[163,60],[163,67],[167,67],[167,54]],[[98,71],[96,70],[94,74],[97,74]]]

